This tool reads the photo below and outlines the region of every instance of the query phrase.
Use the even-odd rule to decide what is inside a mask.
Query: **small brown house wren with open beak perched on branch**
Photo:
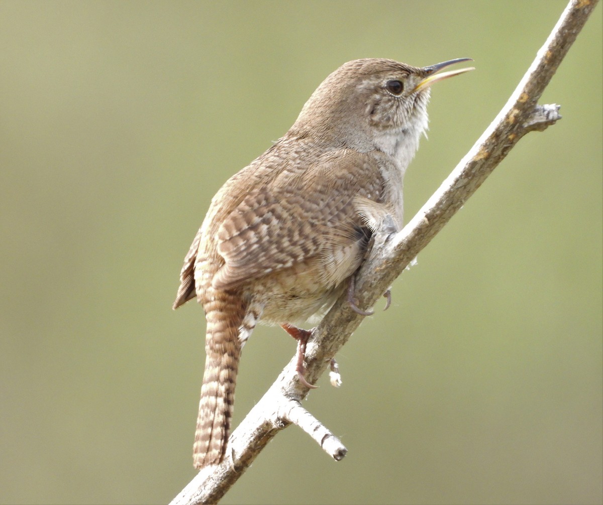
[[[429,86],[472,70],[435,73],[469,59],[343,64],[213,197],[174,302],[197,296],[207,320],[195,468],[224,457],[241,348],[257,322],[300,337],[292,323],[320,317],[347,289],[385,216],[402,227],[402,179],[428,125]]]

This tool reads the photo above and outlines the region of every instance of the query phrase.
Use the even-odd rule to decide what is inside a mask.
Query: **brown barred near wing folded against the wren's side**
[[[315,256],[325,266],[355,257],[352,246],[364,227],[356,197],[378,201],[382,188],[374,158],[357,151],[332,152],[301,174],[280,174],[248,194],[218,228],[225,265],[212,286],[229,289]]]

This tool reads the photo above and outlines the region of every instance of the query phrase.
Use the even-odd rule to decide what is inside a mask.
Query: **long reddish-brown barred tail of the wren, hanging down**
[[[207,357],[193,445],[197,469],[218,464],[226,451],[241,357],[238,333],[245,315],[240,298],[224,291],[204,304],[204,309]]]

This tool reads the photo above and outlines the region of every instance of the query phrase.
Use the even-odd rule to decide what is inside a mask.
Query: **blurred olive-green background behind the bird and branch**
[[[0,2],[0,502],[166,503],[193,477],[204,320],[171,304],[210,198],[339,64],[432,92],[407,219],[557,22],[547,2]],[[602,9],[531,133],[367,318],[223,503],[601,503]],[[379,308],[379,307],[377,307]],[[295,350],[260,327],[235,424]]]

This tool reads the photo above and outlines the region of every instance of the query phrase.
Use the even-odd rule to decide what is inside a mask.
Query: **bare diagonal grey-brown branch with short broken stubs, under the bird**
[[[519,139],[529,131],[543,131],[561,118],[558,105],[537,102],[597,1],[570,1],[505,107],[440,188],[402,231],[390,233],[386,225],[376,234],[370,256],[356,277],[355,301],[359,307],[365,309],[376,303]],[[363,318],[352,310],[344,293],[308,342],[306,378],[310,383],[323,374]],[[289,424],[300,426],[334,459],[345,456],[343,444],[301,407],[308,389],[299,383],[296,365],[294,357],[233,432],[230,457],[220,465],[203,469],[172,504],[216,503],[274,435]]]

